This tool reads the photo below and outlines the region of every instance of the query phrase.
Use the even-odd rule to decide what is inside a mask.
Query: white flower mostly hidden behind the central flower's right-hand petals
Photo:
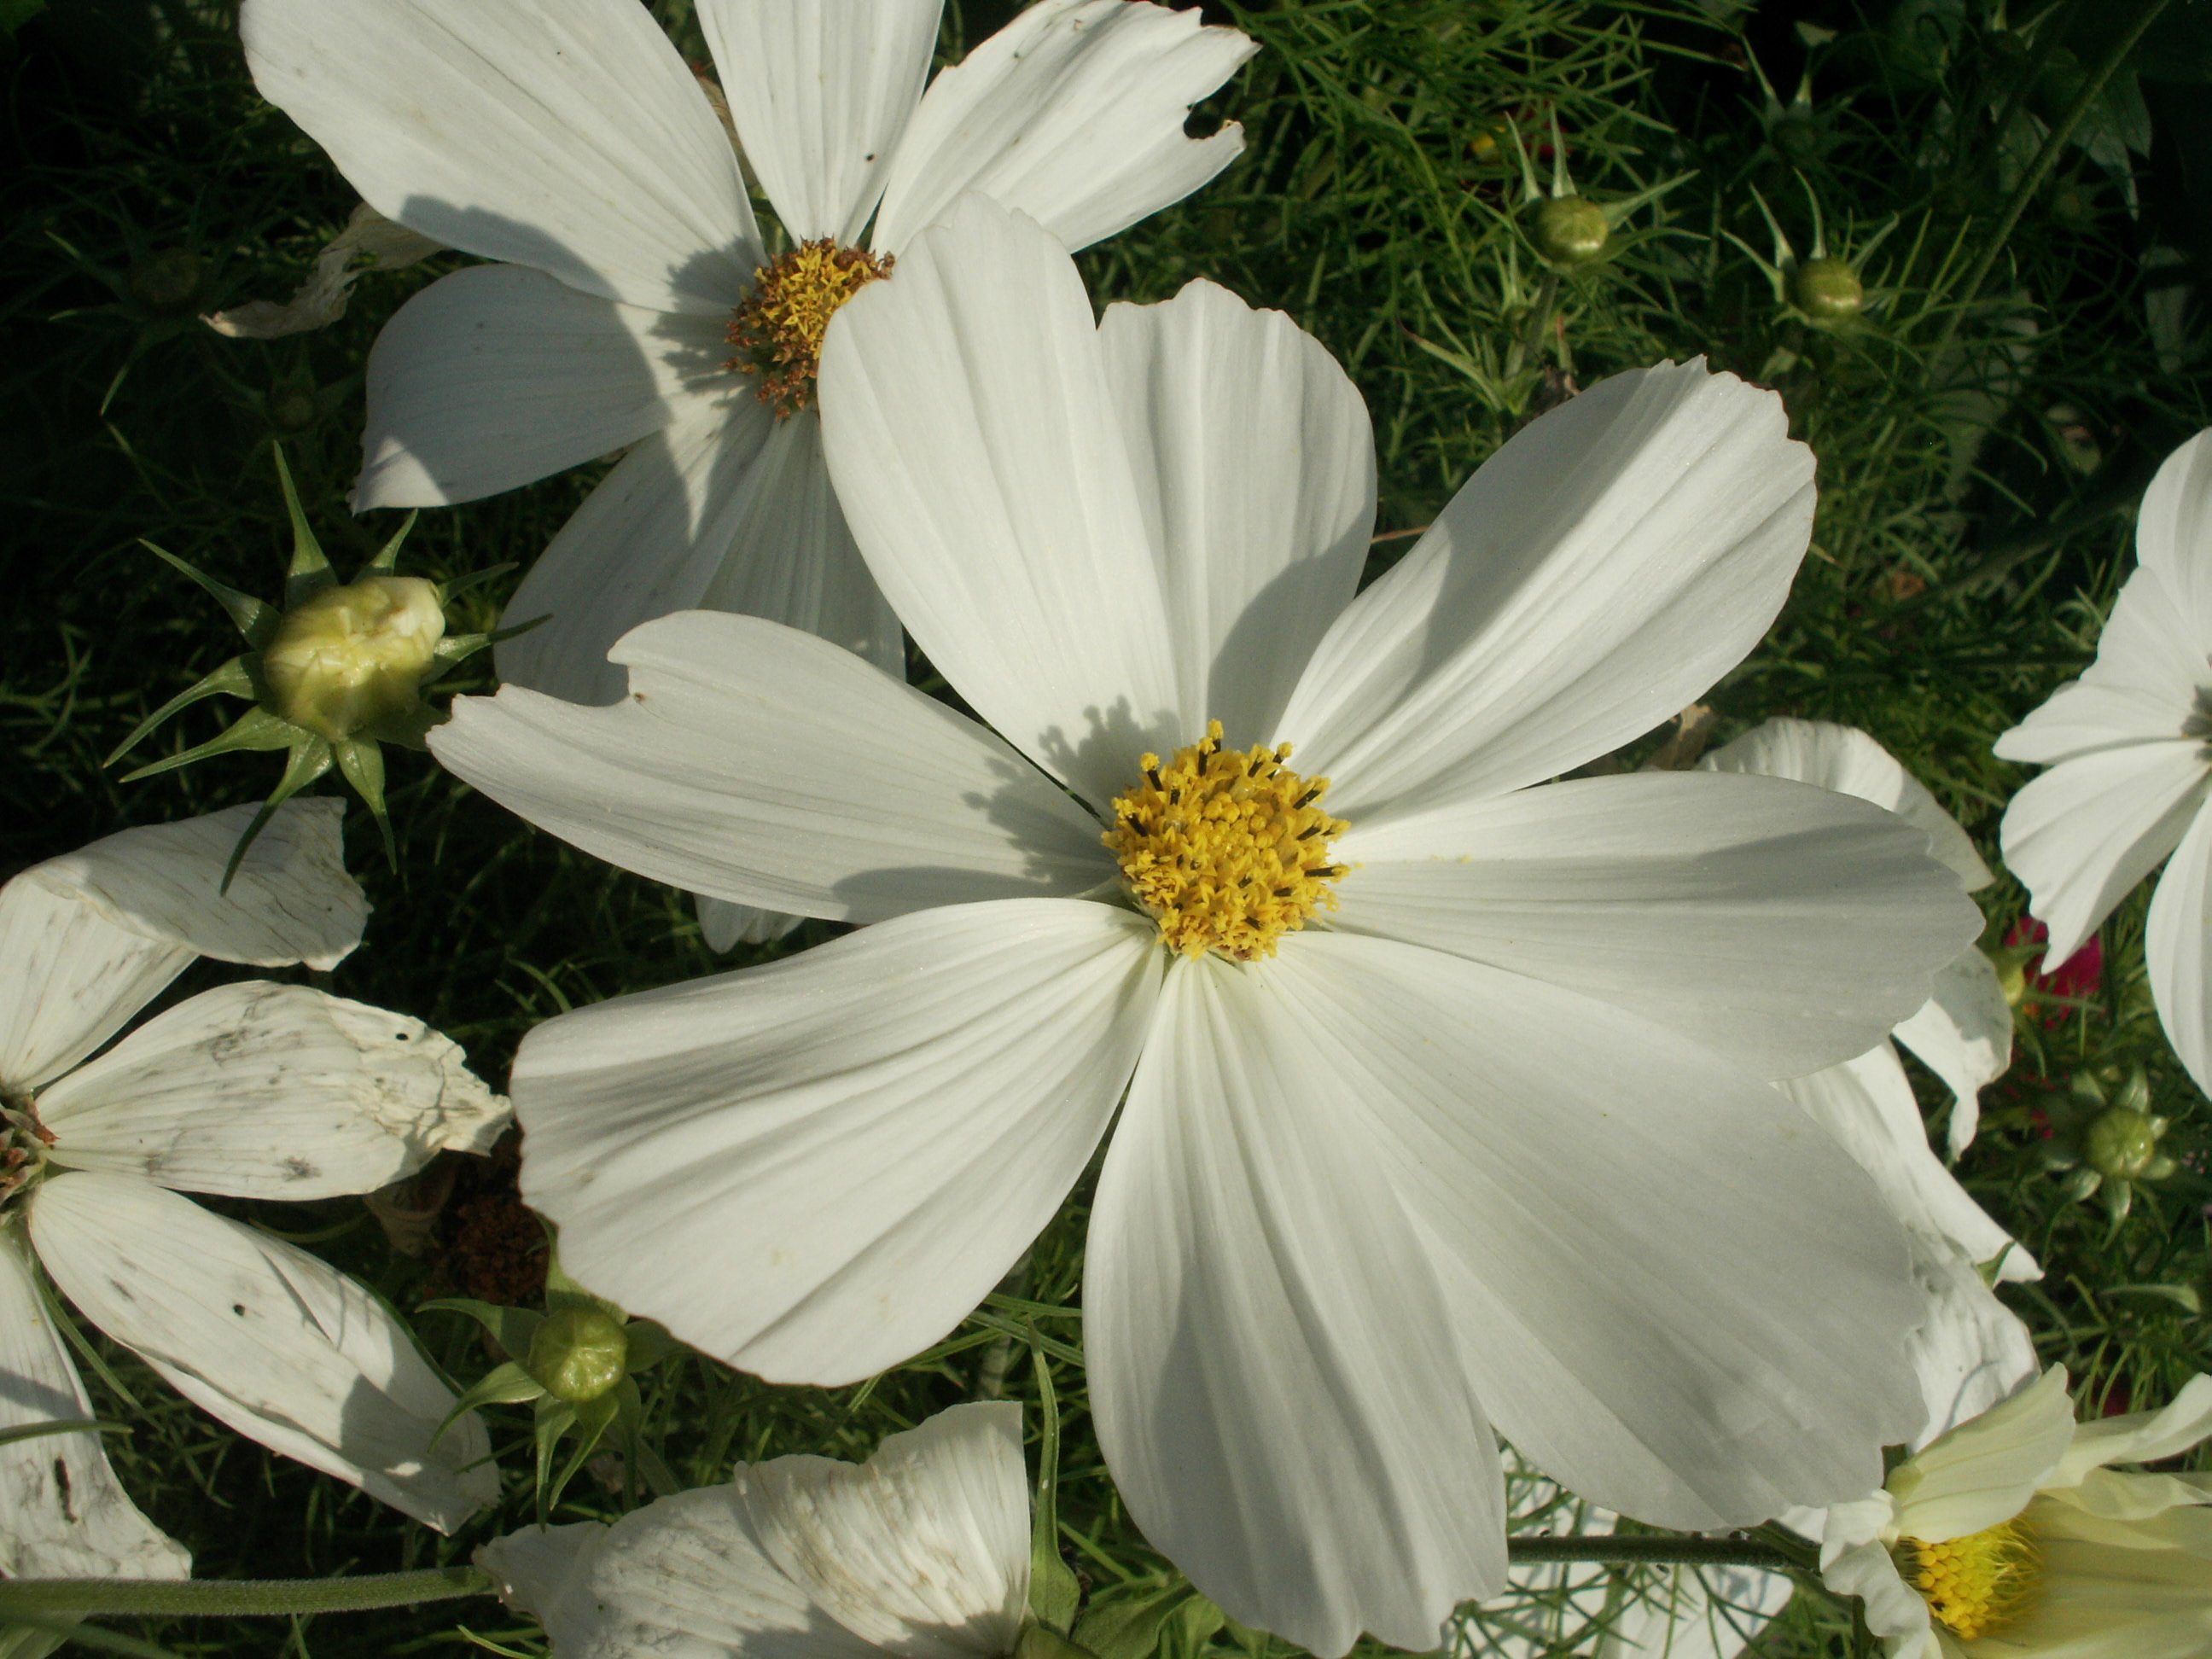
[[[1714,772],[1759,772],[1840,790],[1896,812],[1929,838],[1929,852],[1958,872],[1969,891],[1993,876],[1958,821],[1927,785],[1865,732],[1825,721],[1774,719],[1703,761]],[[2013,1011],[1995,964],[1969,945],[1936,975],[1936,993],[1891,1033],[1953,1091],[1951,1144],[1971,1139],[1978,1091],[2013,1060]],[[1927,1141],[1920,1104],[1891,1042],[1778,1088],[1803,1106],[1865,1166],[1905,1223],[1913,1276],[1929,1294],[1929,1318],[1907,1343],[1927,1398],[1920,1444],[1978,1416],[2035,1376],[2026,1325],[1982,1281],[1995,1263],[2004,1281],[2042,1279],[2042,1267],[1989,1219]],[[1960,1135],[1960,1121],[1969,1133]]]

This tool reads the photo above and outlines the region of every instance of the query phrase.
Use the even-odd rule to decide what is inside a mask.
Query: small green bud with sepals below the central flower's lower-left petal
[[[542,1314],[458,1296],[422,1307],[467,1314],[507,1354],[502,1365],[462,1391],[438,1433],[480,1405],[531,1405],[540,1524],[608,1433],[622,1447],[630,1475],[641,1478],[655,1495],[677,1491],[675,1475],[639,1433],[644,1396],[637,1376],[681,1352],[666,1329],[593,1296],[560,1270],[557,1256],[546,1261]],[[571,1444],[560,1455],[564,1440]]]

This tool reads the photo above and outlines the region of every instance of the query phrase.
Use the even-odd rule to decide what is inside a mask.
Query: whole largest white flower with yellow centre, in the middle
[[[529,1035],[524,1192],[577,1276],[768,1378],[869,1376],[998,1283],[1126,1093],[1091,1405],[1232,1617],[1436,1646],[1504,1579],[1493,1422],[1663,1524],[1867,1491],[1922,1418],[1905,1241],[1761,1079],[1865,1053],[1980,918],[1827,790],[1528,787],[1774,617],[1812,524],[1781,403],[1606,380],[1354,597],[1374,442],[1327,352],[1210,283],[1095,325],[969,197],[838,314],[823,409],[876,580],[989,726],[677,615],[615,648],[624,703],[509,688],[431,737],[617,865],[872,922]]]

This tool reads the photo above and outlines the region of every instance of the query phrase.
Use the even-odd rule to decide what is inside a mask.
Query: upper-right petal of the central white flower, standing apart
[[[1734,668],[1809,535],[1781,398],[1703,361],[1617,374],[1522,427],[1352,602],[1283,737],[1343,816],[1566,772]]]

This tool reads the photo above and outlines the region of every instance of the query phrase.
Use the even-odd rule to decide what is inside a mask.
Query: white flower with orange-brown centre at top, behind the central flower
[[[688,606],[902,672],[805,407],[830,312],[962,190],[1082,248],[1243,146],[1234,124],[1183,135],[1254,51],[1197,11],[1042,0],[925,93],[940,9],[699,0],[745,161],[801,243],[770,263],[730,137],[637,0],[248,0],[257,86],[369,206],[502,261],[431,283],[378,338],[356,509],[630,445],[507,606],[551,615],[500,646],[507,681],[615,701],[606,648]]]

